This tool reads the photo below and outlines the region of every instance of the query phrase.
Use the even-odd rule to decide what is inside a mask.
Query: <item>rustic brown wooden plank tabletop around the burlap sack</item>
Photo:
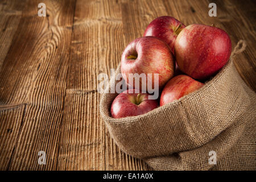
[[[46,4],[46,17],[38,4]],[[209,3],[217,17],[208,15]],[[247,42],[234,59],[255,83],[255,1],[0,1],[0,169],[145,170],[124,154],[100,117],[97,77],[110,75],[123,49],[147,24],[171,15],[214,23]],[[39,151],[46,164],[39,165]]]

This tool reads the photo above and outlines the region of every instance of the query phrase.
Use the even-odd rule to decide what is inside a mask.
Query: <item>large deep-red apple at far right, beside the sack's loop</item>
[[[224,30],[191,24],[177,36],[174,49],[180,70],[201,80],[224,67],[229,60],[232,45]]]

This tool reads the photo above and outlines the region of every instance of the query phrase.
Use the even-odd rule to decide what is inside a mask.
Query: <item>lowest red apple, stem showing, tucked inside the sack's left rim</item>
[[[133,93],[129,93],[129,92]],[[125,90],[115,97],[111,114],[113,118],[123,118],[147,113],[158,107],[158,101],[148,100],[149,94],[135,93],[135,89]]]

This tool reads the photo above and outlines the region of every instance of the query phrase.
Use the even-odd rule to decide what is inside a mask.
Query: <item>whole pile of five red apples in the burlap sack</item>
[[[224,67],[231,51],[230,38],[220,28],[204,24],[186,27],[171,16],[160,16],[147,26],[142,38],[125,48],[121,74],[130,85],[134,81],[129,80],[130,73],[158,73],[163,106],[201,88],[205,80]],[[115,97],[113,118],[144,114],[159,106],[158,100],[148,99],[148,93],[135,93],[140,88]]]

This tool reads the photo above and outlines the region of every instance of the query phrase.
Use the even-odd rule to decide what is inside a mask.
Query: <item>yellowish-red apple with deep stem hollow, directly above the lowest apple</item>
[[[162,88],[174,76],[174,71],[175,61],[170,49],[166,43],[153,36],[135,39],[123,51],[121,60],[122,77],[127,84],[133,84],[135,89],[145,90],[142,88],[146,88],[147,90],[148,84],[155,89],[154,73],[158,73],[159,79],[156,81],[158,81],[159,88]],[[148,73],[151,73],[152,78],[149,77],[146,81],[141,80],[139,85],[136,86],[135,79],[129,80],[130,73],[138,73],[138,75],[144,73],[146,78]]]

